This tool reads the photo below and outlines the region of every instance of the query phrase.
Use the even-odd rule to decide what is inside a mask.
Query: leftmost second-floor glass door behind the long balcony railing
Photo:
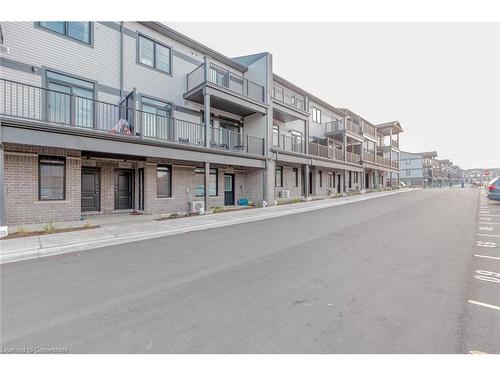
[[[94,127],[94,84],[47,72],[47,118],[49,122]]]

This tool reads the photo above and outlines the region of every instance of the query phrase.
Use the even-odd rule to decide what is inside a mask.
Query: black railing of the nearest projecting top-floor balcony
[[[224,87],[237,94],[264,102],[264,86],[246,79],[214,63],[209,63],[208,75],[205,76],[205,63],[187,75],[188,91],[204,82]]]

